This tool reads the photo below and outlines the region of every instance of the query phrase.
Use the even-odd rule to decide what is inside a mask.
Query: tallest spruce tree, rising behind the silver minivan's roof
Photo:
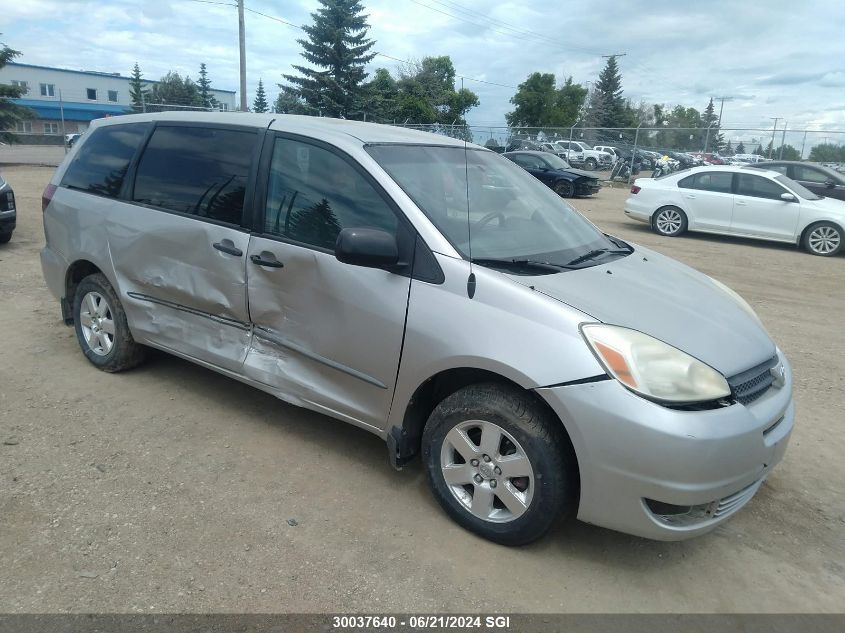
[[[311,14],[314,23],[302,27],[307,39],[302,56],[316,66],[294,65],[300,76],[284,75],[297,96],[323,116],[344,117],[357,114],[361,102],[364,68],[375,57],[370,53],[373,40],[367,38],[367,16],[358,0],[319,0],[320,7]]]

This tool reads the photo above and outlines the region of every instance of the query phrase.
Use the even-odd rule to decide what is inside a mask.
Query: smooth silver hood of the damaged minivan
[[[775,354],[765,329],[709,277],[639,246],[608,264],[511,278],[598,321],[660,339],[726,377]]]

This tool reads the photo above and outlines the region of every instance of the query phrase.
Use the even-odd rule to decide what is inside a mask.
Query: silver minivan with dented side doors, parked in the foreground
[[[43,208],[44,276],[95,367],[158,348],[355,424],[500,543],[567,516],[702,534],[792,431],[789,363],[745,301],[462,141],[113,117]]]

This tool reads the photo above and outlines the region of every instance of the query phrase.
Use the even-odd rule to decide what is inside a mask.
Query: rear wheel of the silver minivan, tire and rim
[[[143,362],[146,350],[132,338],[126,313],[105,275],[89,275],[79,282],[73,322],[82,353],[98,369],[113,373]]]

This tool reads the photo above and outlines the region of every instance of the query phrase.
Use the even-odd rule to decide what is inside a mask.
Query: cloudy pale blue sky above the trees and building
[[[234,0],[2,0],[4,41],[20,62],[149,79],[168,70],[238,88]],[[722,126],[845,130],[843,0],[362,0],[376,41],[371,70],[397,59],[451,56],[481,104],[471,124],[504,125],[515,86],[531,72],[597,79],[602,55],[619,59],[625,96],[703,110],[731,97]],[[249,102],[262,78],[271,98],[302,64],[287,26],[308,24],[316,0],[246,0]],[[264,13],[265,16],[255,12]],[[59,16],[49,18],[47,16]],[[481,81],[490,83],[481,83]],[[460,81],[460,80],[459,80]],[[501,84],[501,85],[494,85]],[[831,135],[845,142],[845,134]],[[790,142],[789,140],[787,142]]]

